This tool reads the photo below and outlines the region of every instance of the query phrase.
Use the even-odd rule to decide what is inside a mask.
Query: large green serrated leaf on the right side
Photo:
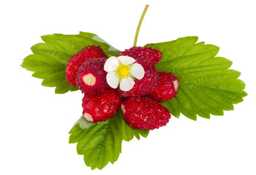
[[[219,47],[196,42],[196,36],[188,36],[145,46],[162,52],[157,70],[172,72],[180,83],[176,98],[162,104],[174,116],[182,113],[192,120],[197,115],[223,115],[246,96],[245,84],[238,79],[240,72],[229,69],[231,61],[216,57]]]

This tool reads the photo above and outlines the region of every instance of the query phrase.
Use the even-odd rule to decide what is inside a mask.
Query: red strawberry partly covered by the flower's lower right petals
[[[129,91],[120,90],[121,96],[133,97],[133,96],[145,96],[150,93],[157,85],[158,74],[157,69],[151,63],[141,62],[141,66],[145,71],[143,79],[136,79],[135,85]]]

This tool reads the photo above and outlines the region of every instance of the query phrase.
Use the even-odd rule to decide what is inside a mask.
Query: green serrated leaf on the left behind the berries
[[[106,55],[117,55],[120,51],[96,34],[80,32],[78,35],[53,34],[42,36],[44,43],[31,47],[33,55],[24,58],[22,67],[34,71],[33,77],[43,79],[42,85],[56,87],[55,93],[78,90],[66,81],[67,61],[84,47],[92,44],[102,47]]]

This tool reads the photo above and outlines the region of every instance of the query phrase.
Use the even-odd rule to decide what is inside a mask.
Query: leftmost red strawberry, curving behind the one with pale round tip
[[[75,79],[79,67],[90,58],[106,58],[106,55],[100,47],[91,45],[90,47],[85,47],[69,59],[66,68],[66,79],[70,85],[76,85]]]

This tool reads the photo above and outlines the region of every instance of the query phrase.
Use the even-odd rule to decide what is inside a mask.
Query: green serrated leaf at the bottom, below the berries
[[[121,153],[123,140],[140,139],[140,135],[148,136],[149,131],[133,129],[124,121],[120,110],[104,123],[91,123],[83,128],[78,120],[69,132],[69,144],[77,143],[78,155],[84,155],[86,166],[91,169],[102,169],[108,163],[114,163]]]

